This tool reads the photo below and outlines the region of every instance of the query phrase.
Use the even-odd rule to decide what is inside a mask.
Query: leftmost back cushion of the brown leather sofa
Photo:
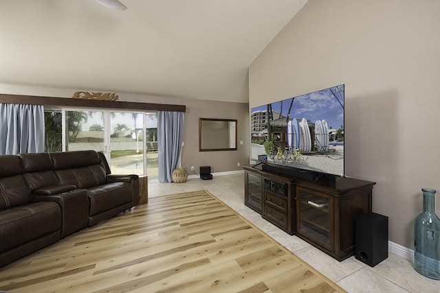
[[[32,202],[19,156],[0,156],[0,211]]]

